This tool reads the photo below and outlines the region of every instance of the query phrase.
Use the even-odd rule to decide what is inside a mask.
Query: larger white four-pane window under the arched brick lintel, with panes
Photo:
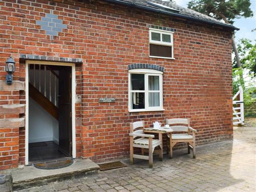
[[[128,83],[129,112],[163,111],[163,72],[132,69]]]

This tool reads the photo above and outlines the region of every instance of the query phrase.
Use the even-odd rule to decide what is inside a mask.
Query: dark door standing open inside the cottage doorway
[[[59,150],[67,156],[72,155],[72,81],[71,67],[59,70]]]

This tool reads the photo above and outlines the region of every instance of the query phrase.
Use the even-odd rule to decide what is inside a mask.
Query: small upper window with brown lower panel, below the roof
[[[149,29],[149,57],[174,59],[173,32]]]

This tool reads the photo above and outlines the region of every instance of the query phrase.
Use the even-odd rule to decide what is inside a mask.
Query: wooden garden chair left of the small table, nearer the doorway
[[[161,140],[155,140],[154,135],[144,134],[144,121],[130,123],[130,164],[133,164],[134,158],[149,160],[149,167],[153,167],[154,148],[162,145]],[[135,130],[136,129],[136,130]],[[137,138],[140,137],[140,138]],[[137,138],[137,139],[135,139]],[[142,155],[134,154],[134,147],[141,148]],[[148,156],[144,155],[144,149],[148,149]],[[160,150],[162,150],[160,148]],[[162,154],[162,151],[161,151]],[[160,153],[159,153],[160,157]]]

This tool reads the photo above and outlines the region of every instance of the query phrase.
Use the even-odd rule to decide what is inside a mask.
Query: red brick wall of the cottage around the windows
[[[65,2],[70,5],[48,0],[0,2],[0,79],[5,80],[3,66],[10,55],[16,61],[15,80],[20,81],[25,75],[20,54],[82,58],[76,71],[76,94],[82,97],[76,104],[78,157],[99,161],[128,155],[129,123],[137,120],[149,126],[156,120],[164,123],[166,117],[190,118],[198,130],[197,143],[232,137],[231,31],[101,1],[76,6]],[[50,10],[67,24],[53,40],[35,24]],[[177,29],[175,60],[148,57],[147,24]],[[127,66],[133,63],[165,67],[165,111],[128,112]],[[24,94],[6,93],[17,95],[18,103],[25,102]],[[101,97],[114,97],[116,102],[99,103]],[[1,93],[0,103],[9,102],[12,99]],[[24,130],[20,128],[19,135],[21,164]],[[0,142],[0,148],[6,145]]]

